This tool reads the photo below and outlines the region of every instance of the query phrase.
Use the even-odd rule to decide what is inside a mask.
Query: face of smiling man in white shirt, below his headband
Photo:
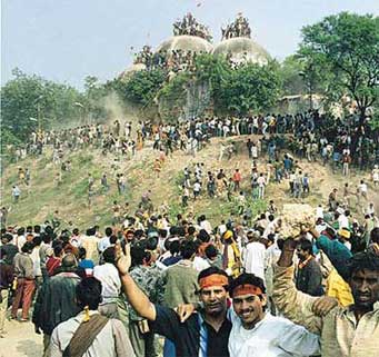
[[[246,329],[251,329],[265,317],[266,297],[253,294],[233,297],[233,309]]]

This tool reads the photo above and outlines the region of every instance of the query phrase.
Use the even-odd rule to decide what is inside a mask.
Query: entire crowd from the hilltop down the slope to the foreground
[[[241,140],[249,135],[259,137]],[[44,356],[150,357],[159,354],[157,343],[164,357],[282,356],[283,350],[285,356],[376,356],[379,221],[368,184],[351,188],[349,180],[351,166],[373,167],[371,188],[379,185],[378,138],[369,118],[341,121],[308,111],[171,125],[114,120],[33,132],[28,146],[38,151],[28,153],[51,147],[52,162],[64,172],[71,170],[69,151],[93,148],[126,158],[149,140],[159,152],[153,163],[159,176],[174,150],[196,157],[212,137],[227,139],[220,168],[184,167],[177,182],[187,214],[174,219],[170,205],[152,205],[150,190],[136,211],[122,206],[127,177],[117,169],[121,204],[113,201],[112,226],[104,229],[80,231],[58,211],[43,225],[9,227],[9,209],[2,207],[0,335],[7,338],[8,314],[20,323],[31,318],[43,334]],[[240,150],[249,156],[250,171],[230,165]],[[347,184],[342,194],[331,188],[328,201],[289,237],[289,217],[272,200],[257,217],[249,200],[267,199],[266,187],[283,179],[293,199],[309,195],[311,172],[293,152],[330,163]],[[102,195],[109,191],[107,173]],[[30,185],[29,168],[19,168],[18,182]],[[89,206],[93,190],[89,173]],[[18,185],[12,196],[17,209]],[[216,227],[191,208],[205,196],[233,206]]]

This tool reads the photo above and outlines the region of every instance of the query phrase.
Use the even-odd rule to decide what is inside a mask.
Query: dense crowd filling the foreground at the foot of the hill
[[[184,188],[203,170],[186,168]],[[221,195],[209,185],[213,173],[205,176],[208,195]],[[222,169],[215,175],[225,178]],[[239,180],[236,169],[237,194]],[[192,210],[170,219],[167,204],[149,205],[150,194],[136,212],[114,202],[103,231],[59,218],[2,227],[1,338],[9,314],[43,334],[44,356],[150,357],[157,341],[163,356],[178,357],[379,353],[372,205],[361,224],[335,191],[299,236],[286,237],[273,201],[257,217],[242,209],[212,227]]]

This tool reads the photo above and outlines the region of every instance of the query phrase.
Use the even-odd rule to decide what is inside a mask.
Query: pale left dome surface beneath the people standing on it
[[[212,51],[212,44],[201,37],[182,34],[173,36],[163,41],[160,46],[158,46],[156,52],[166,51],[168,54],[170,54],[172,51],[181,50],[197,53],[209,53]]]

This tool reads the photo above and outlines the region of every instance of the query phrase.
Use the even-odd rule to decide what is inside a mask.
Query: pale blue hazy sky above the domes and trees
[[[341,11],[379,16],[379,0],[1,0],[1,86],[16,67],[78,89],[86,76],[112,79],[131,65],[131,48],[157,48],[189,11],[215,43],[242,12],[253,40],[282,60],[303,26]]]

